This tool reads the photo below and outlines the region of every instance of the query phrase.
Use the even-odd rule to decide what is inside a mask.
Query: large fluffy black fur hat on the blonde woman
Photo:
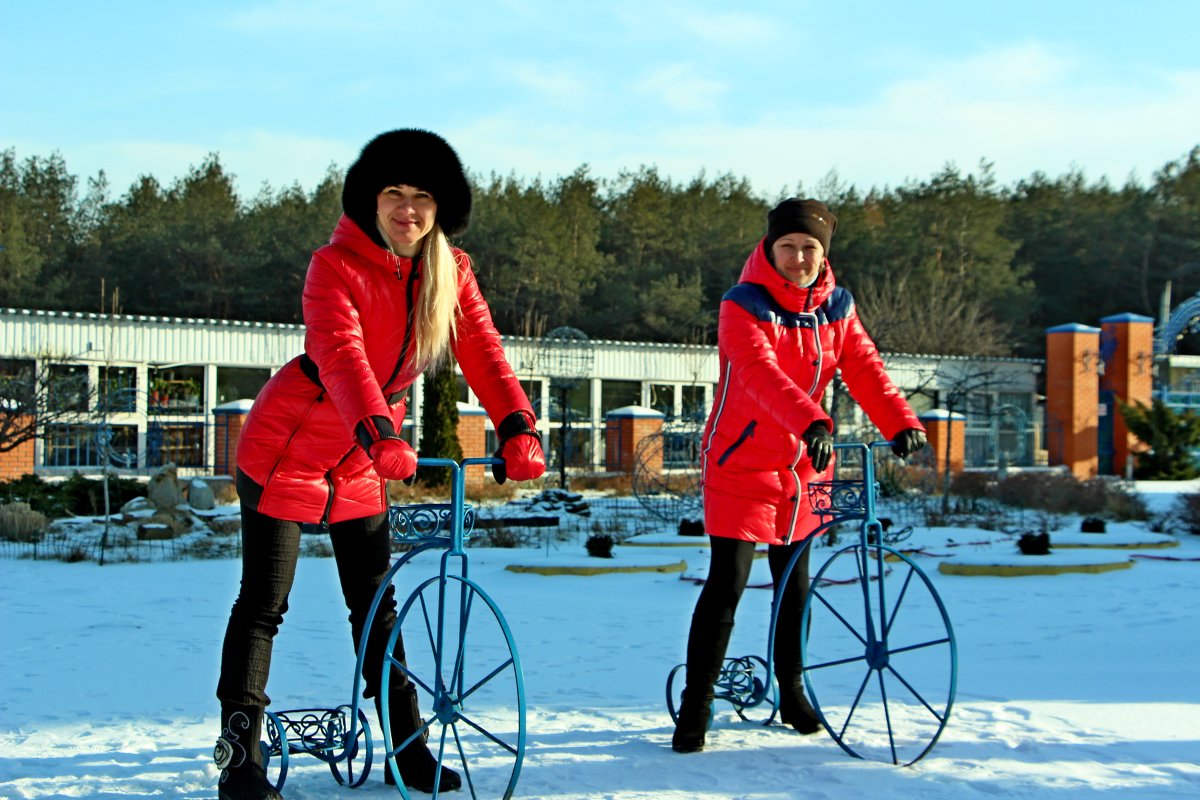
[[[400,128],[380,133],[362,148],[346,170],[342,211],[376,243],[383,239],[376,227],[376,199],[385,186],[406,184],[433,196],[437,222],[446,236],[467,230],[470,221],[470,184],[454,151],[437,133]]]

